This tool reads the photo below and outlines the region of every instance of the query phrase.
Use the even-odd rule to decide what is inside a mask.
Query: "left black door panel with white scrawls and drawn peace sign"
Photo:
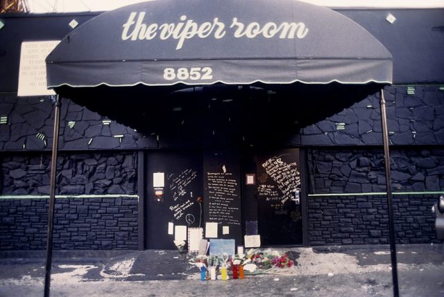
[[[201,152],[150,152],[146,157],[146,249],[176,249],[174,226],[203,226],[201,204],[203,195]],[[164,195],[155,195],[153,174],[164,174]],[[156,189],[159,189],[157,187]]]

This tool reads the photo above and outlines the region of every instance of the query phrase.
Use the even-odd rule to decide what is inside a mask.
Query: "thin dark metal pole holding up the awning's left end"
[[[56,96],[56,109],[54,111],[53,149],[51,156],[51,180],[49,186],[48,236],[46,242],[46,273],[44,276],[44,297],[49,297],[51,285],[51,265],[53,258],[53,224],[54,204],[56,203],[56,171],[58,153],[58,128],[60,123],[60,98]]]

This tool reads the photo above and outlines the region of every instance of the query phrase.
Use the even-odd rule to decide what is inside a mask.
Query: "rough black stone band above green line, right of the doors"
[[[391,147],[393,191],[444,189],[444,148]],[[382,148],[309,150],[309,189],[312,194],[385,192]]]

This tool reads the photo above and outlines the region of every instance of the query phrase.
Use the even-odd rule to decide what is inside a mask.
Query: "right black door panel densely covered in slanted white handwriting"
[[[299,150],[255,152],[251,159],[255,161],[250,169],[255,170],[255,211],[262,245],[302,245]],[[246,198],[246,207],[254,208],[251,201]]]

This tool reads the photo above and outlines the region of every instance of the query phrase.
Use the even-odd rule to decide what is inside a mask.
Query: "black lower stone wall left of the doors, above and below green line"
[[[48,154],[6,154],[1,195],[48,195]],[[96,152],[58,158],[55,249],[137,249],[137,154]],[[0,249],[45,249],[48,199],[0,199]]]

